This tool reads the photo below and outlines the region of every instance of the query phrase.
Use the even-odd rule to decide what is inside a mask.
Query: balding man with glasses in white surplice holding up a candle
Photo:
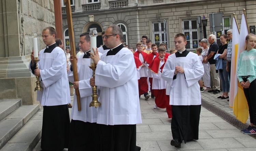
[[[92,55],[97,68],[91,86],[101,87],[97,123],[101,125],[102,150],[137,151],[136,124],[141,123],[136,64],[121,40],[123,32],[110,25],[104,43],[111,50],[100,58]]]

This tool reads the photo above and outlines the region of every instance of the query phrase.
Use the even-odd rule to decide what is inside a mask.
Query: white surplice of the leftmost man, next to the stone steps
[[[39,79],[42,80],[43,90],[37,91],[37,100],[42,106],[66,105],[70,103],[66,55],[59,47],[54,48],[51,53],[44,51],[45,49],[39,52]]]

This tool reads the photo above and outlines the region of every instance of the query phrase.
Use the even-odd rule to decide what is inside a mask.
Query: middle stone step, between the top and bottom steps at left
[[[20,106],[0,122],[0,149],[39,111],[39,105]],[[42,124],[41,124],[42,125]],[[24,138],[27,136],[25,135]],[[40,136],[41,137],[41,136]],[[23,138],[23,139],[24,139]],[[2,151],[2,150],[1,150]]]

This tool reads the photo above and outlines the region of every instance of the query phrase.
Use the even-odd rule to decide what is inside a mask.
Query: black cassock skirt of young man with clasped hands
[[[172,137],[184,140],[198,139],[201,105],[173,106],[172,105]]]

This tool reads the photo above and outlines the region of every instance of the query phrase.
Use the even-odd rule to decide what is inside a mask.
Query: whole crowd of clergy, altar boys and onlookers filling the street
[[[46,48],[39,53],[39,68],[35,69],[33,51],[29,67],[34,75],[40,76],[43,87],[43,91],[37,93],[37,100],[44,108],[42,151],[64,148],[70,151],[139,151],[136,124],[142,122],[141,95],[145,100],[149,97],[155,99],[153,109],[166,108],[168,118],[172,118],[173,139],[170,143],[181,148],[183,141],[198,139],[200,92],[220,93],[220,77],[223,94],[218,98],[229,98],[232,30],[220,36],[222,44],[219,46],[215,35],[200,40],[201,48],[196,53],[185,48],[187,41],[184,34],[176,34],[175,48],[170,49],[169,54],[165,43],[158,47],[147,36],[142,36],[135,51],[127,48],[122,43],[120,27],[110,25],[102,33],[104,45],[99,48],[90,50],[88,32],[80,35],[81,55],[74,58],[76,61],[70,56],[69,49],[66,48],[66,53],[62,50],[63,42],[56,40],[53,27],[46,27],[42,36]],[[245,43],[247,50],[241,54],[237,70],[248,101],[251,125],[241,131],[256,134],[256,36],[248,35]],[[93,78],[93,71],[89,68],[91,59],[97,65]],[[79,81],[74,81],[74,62]],[[69,81],[80,92],[82,109],[78,111],[75,94],[71,122]],[[101,102],[98,108],[89,107],[92,86],[98,89]]]

